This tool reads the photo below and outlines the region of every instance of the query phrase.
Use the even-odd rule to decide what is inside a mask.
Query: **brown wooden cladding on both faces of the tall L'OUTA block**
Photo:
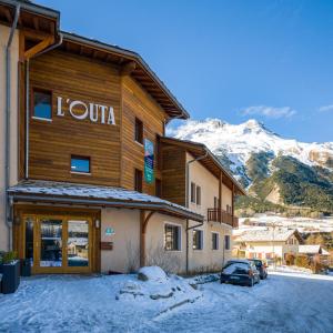
[[[144,168],[143,140],[149,139],[157,148],[158,138],[164,133],[167,114],[135,80],[120,71],[118,64],[91,61],[61,50],[30,60],[29,178],[134,189],[134,169]],[[20,82],[20,176],[23,178],[23,70]],[[51,119],[33,117],[33,91],[50,93]],[[62,117],[59,117],[59,98]],[[115,125],[92,122],[89,117],[82,120],[71,117],[69,100],[82,101],[88,107],[112,107]],[[80,117],[79,111],[75,112]],[[90,159],[89,174],[71,172],[72,155]],[[160,179],[161,172],[157,170],[155,176]],[[154,182],[143,182],[142,191],[154,194]]]

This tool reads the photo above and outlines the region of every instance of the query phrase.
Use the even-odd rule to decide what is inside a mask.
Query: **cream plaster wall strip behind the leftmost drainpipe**
[[[0,250],[8,250],[8,229],[4,221],[4,124],[6,124],[6,46],[10,28],[0,24]],[[11,44],[11,118],[10,118],[10,184],[18,182],[18,61],[19,33]]]

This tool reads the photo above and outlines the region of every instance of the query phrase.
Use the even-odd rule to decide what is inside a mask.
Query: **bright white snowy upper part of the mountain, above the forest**
[[[230,169],[239,176],[253,153],[268,152],[273,157],[293,157],[307,165],[321,165],[333,171],[333,142],[305,143],[285,139],[256,120],[230,124],[219,119],[190,120],[169,135],[206,144],[216,155],[226,157]]]

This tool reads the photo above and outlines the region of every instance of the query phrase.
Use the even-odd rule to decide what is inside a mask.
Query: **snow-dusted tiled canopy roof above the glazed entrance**
[[[84,204],[151,210],[181,219],[203,221],[203,216],[170,201],[122,188],[53,181],[22,181],[8,189],[14,202]]]

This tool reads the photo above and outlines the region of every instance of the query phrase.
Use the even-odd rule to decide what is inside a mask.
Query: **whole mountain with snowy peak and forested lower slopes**
[[[333,142],[282,138],[256,120],[190,120],[167,133],[204,143],[261,203],[333,212]]]

